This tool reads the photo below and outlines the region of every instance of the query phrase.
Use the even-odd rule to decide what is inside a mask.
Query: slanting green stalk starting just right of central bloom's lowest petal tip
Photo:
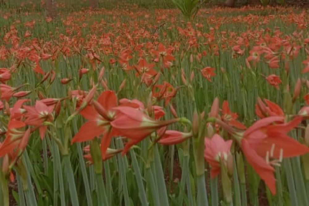
[[[148,201],[147,201],[147,196],[146,196],[146,192],[145,192],[145,188],[143,184],[142,174],[138,167],[138,162],[137,162],[134,150],[132,149],[130,150],[130,155],[132,158],[132,166],[133,166],[134,175],[135,175],[137,186],[138,186],[138,197],[141,200],[142,206],[148,206]]]

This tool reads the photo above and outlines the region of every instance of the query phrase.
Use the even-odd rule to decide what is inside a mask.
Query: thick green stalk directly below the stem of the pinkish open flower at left
[[[69,184],[71,204],[72,205],[79,205],[78,195],[77,195],[75,180],[74,180],[74,173],[73,173],[72,164],[71,164],[71,161],[70,161],[70,155],[63,155],[62,161],[63,161],[63,164],[64,164],[64,171],[65,171],[65,174],[66,174],[67,182]]]

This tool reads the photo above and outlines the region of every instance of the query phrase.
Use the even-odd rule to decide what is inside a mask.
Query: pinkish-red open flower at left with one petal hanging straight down
[[[40,137],[41,139],[44,138],[45,132],[47,130],[47,126],[45,126],[44,122],[51,122],[53,121],[53,109],[54,105],[52,106],[46,106],[41,101],[36,101],[36,105],[34,107],[30,106],[23,106],[27,113],[25,116],[27,119],[25,120],[25,123],[28,125],[36,126],[39,128]]]

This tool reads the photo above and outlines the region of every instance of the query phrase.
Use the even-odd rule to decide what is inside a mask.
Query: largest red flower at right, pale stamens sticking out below
[[[256,173],[264,180],[272,194],[276,194],[274,168],[282,158],[290,158],[309,152],[309,148],[286,135],[302,118],[296,117],[285,124],[284,117],[272,116],[256,121],[242,135],[241,149]],[[273,124],[277,123],[277,124]]]

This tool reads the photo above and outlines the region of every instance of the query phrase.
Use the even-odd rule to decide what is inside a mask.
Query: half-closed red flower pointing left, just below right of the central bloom
[[[166,130],[160,137],[159,143],[162,145],[176,145],[192,137],[192,132],[179,132]]]

